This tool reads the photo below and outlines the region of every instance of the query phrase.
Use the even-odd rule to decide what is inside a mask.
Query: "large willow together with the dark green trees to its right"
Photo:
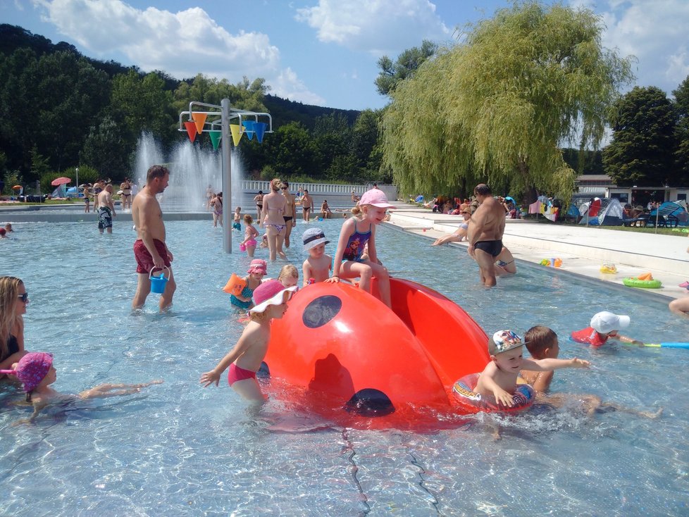
[[[674,100],[657,87],[622,95],[633,57],[602,47],[603,30],[588,8],[516,2],[456,44],[381,58],[383,166],[409,194],[464,196],[488,182],[528,203],[569,201],[582,173],[689,186],[689,77]]]

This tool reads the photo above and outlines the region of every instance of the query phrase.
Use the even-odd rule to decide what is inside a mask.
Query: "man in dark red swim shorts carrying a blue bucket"
[[[132,219],[137,228],[134,257],[137,260],[139,277],[137,292],[132,302],[133,309],[140,309],[146,303],[146,298],[151,292],[149,274],[153,268],[164,270],[166,277],[169,275],[165,291],[161,294],[161,311],[172,304],[173,294],[177,288],[172,268],[170,268],[173,256],[165,244],[163,211],[156,199],[156,194],[161,194],[168,186],[169,179],[170,171],[167,168],[161,165],[151,166],[147,172],[146,186],[139,191],[132,203]]]

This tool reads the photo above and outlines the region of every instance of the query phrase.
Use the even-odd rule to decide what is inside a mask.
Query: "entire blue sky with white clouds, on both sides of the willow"
[[[689,0],[570,0],[592,8],[603,44],[634,55],[636,85],[668,95],[689,75]],[[0,22],[82,54],[173,77],[266,79],[271,93],[332,108],[381,108],[380,56],[457,27],[505,0],[2,0]]]

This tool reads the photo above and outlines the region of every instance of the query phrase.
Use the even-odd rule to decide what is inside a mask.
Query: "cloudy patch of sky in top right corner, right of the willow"
[[[638,58],[636,84],[657,86],[667,94],[689,75],[689,1],[572,1],[602,15],[603,44],[622,56]]]

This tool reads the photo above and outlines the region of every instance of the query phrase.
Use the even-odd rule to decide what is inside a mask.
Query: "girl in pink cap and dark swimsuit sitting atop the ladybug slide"
[[[396,208],[387,202],[385,192],[373,188],[364,192],[359,204],[352,208],[354,217],[344,221],[337,240],[333,263],[333,276],[325,282],[340,282],[340,278],[359,277],[359,289],[371,292],[371,278],[378,279],[380,301],[388,307],[390,300],[390,276],[378,263],[375,249],[375,227],[385,220],[387,208]],[[368,257],[362,256],[368,244]]]

